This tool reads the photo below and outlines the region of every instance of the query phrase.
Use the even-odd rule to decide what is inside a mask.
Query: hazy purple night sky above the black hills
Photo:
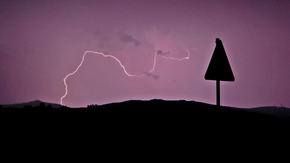
[[[204,75],[220,38],[234,82],[221,105],[290,107],[290,1],[0,1],[0,103],[85,107],[125,100],[216,104]],[[165,54],[166,52],[169,52]],[[154,76],[157,75],[157,76]]]

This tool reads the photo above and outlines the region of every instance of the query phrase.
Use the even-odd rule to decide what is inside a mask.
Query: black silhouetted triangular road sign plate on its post
[[[206,80],[235,81],[234,74],[230,68],[227,54],[223,48],[222,40],[216,38],[216,48],[212,54],[208,69],[205,73]]]

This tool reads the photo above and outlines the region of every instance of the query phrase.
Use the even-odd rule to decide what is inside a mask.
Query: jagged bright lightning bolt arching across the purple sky
[[[182,45],[182,46],[183,46],[183,45]],[[184,48],[183,48],[183,49],[184,49]],[[185,58],[182,58],[182,59],[172,58],[172,57],[165,57],[165,56],[161,56],[161,57],[166,58],[166,59],[179,60],[179,61],[180,61],[180,60],[184,60],[184,59],[189,59],[190,53],[189,53],[188,49],[184,49],[184,50],[187,51],[188,56],[185,57]],[[117,61],[119,62],[120,66],[123,68],[125,74],[127,74],[128,76],[131,76],[131,77],[142,77],[142,76],[144,76],[144,75],[146,74],[146,73],[141,74],[141,75],[131,75],[131,74],[128,74],[127,71],[125,70],[125,67],[121,64],[121,62],[120,62],[116,57],[111,56],[111,55],[105,55],[105,54],[103,54],[103,53],[98,53],[98,52],[93,52],[93,51],[86,51],[86,52],[84,53],[83,57],[82,57],[82,62],[81,62],[81,64],[78,65],[78,68],[77,68],[73,73],[68,74],[68,75],[63,79],[64,85],[65,85],[65,94],[64,94],[64,96],[62,96],[61,99],[60,99],[60,104],[61,104],[61,105],[63,105],[63,104],[62,104],[62,100],[63,100],[63,98],[64,98],[65,96],[67,96],[67,83],[66,83],[65,80],[67,79],[67,77],[69,77],[70,75],[73,75],[74,73],[76,73],[76,72],[78,71],[78,69],[82,66],[82,63],[83,63],[83,61],[84,61],[84,59],[85,59],[85,55],[86,55],[87,53],[101,54],[101,55],[103,55],[104,57],[112,57],[112,58],[114,58],[115,60],[117,60]],[[157,56],[157,52],[155,53],[155,56],[154,56],[154,65],[153,65],[153,68],[152,68],[151,71],[149,71],[149,73],[151,73],[151,72],[154,70],[154,68],[155,68],[156,56]]]

